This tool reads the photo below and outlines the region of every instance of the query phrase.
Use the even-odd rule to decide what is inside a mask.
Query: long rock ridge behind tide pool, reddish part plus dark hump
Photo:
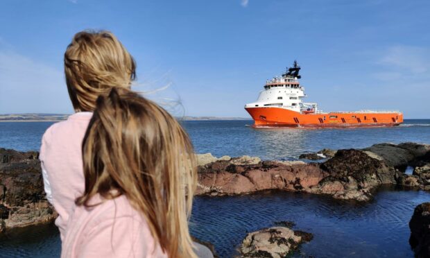
[[[395,184],[400,172],[362,150],[338,150],[322,164],[259,162],[235,165],[217,161],[200,166],[197,194],[234,195],[280,189],[369,200],[380,184]]]

